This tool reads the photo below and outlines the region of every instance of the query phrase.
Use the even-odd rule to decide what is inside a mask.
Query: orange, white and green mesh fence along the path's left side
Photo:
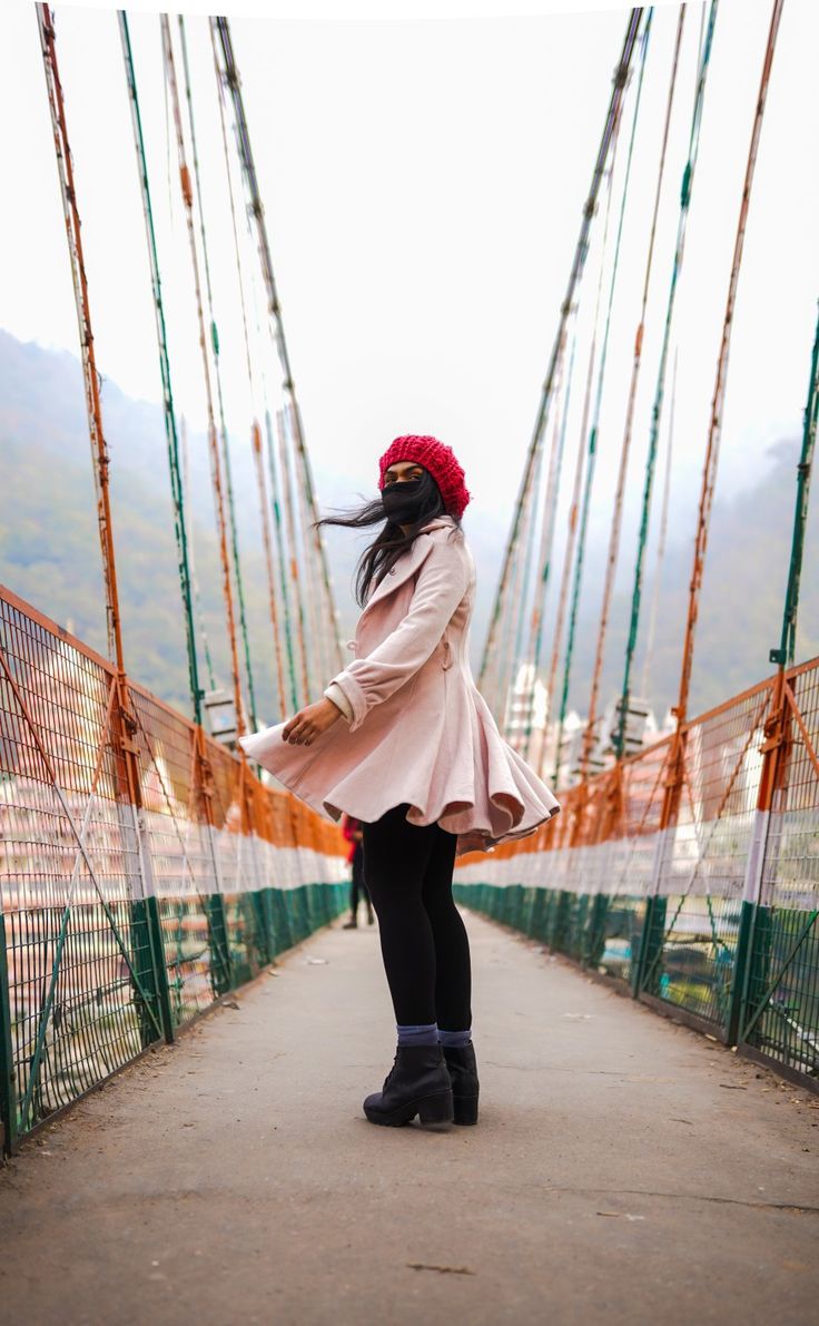
[[[7,1150],[346,906],[335,826],[130,703],[126,732],[111,664],[0,590]]]

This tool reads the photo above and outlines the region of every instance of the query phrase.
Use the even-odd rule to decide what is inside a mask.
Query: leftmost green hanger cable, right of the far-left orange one
[[[162,297],[162,280],[159,273],[159,255],[156,251],[156,232],[154,228],[154,211],[151,207],[151,188],[148,182],[147,160],[144,152],[144,138],[142,133],[142,114],[139,110],[139,97],[136,93],[136,76],[134,72],[134,57],[131,50],[129,20],[125,9],[121,9],[118,12],[118,23],[119,23],[119,37],[122,42],[122,53],[125,60],[126,82],[129,89],[129,106],[131,111],[131,126],[134,130],[134,147],[136,151],[139,191],[142,198],[142,211],[146,225],[148,265],[151,271],[151,292],[154,296],[154,314],[156,320],[159,373],[162,378],[162,407],[164,418],[164,432],[168,447],[171,501],[174,505],[174,537],[176,540],[179,585],[182,590],[182,606],[183,606],[183,617],[186,625],[186,644],[188,654],[188,682],[191,687],[193,720],[199,727],[201,727],[203,695],[199,686],[199,664],[196,659],[196,634],[193,629],[193,605],[191,593],[191,566],[190,566],[187,520],[186,520],[186,507],[184,507],[184,485],[182,481],[182,468],[179,463],[179,436],[176,432],[176,412],[174,407],[174,391],[171,382],[171,361],[168,355],[164,302]]]

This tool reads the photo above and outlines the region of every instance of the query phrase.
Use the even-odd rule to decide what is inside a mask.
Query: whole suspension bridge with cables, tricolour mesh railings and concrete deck
[[[70,138],[81,93],[64,88],[52,8],[36,5],[107,648],[0,586],[0,1124],[12,1158],[0,1176],[3,1293],[32,1321],[408,1322],[455,1311],[476,1322],[811,1319],[819,659],[799,656],[798,611],[804,575],[815,574],[806,530],[819,324],[804,346],[775,644],[755,684],[689,712],[694,662],[708,662],[696,652],[697,625],[745,239],[765,206],[757,159],[789,15],[786,0],[766,8],[742,187],[725,203],[736,240],[697,443],[676,703],[664,725],[652,724],[686,353],[675,306],[692,278],[686,228],[700,143],[718,114],[710,81],[720,0],[628,12],[587,192],[574,200],[576,245],[476,679],[506,740],[554,780],[562,809],[526,839],[463,855],[456,870],[477,955],[486,1122],[469,1136],[403,1130],[374,1155],[372,1130],[353,1119],[391,1026],[372,935],[351,939],[333,924],[347,898],[346,843],[237,744],[319,696],[345,650],[253,154],[258,126],[249,123],[231,24],[201,20],[212,57],[205,86],[188,58],[186,20],[156,19],[168,188],[184,224],[207,416],[227,642],[216,650],[175,396],[162,182],[150,170],[129,16],[115,20],[162,375],[183,709],[140,684],[123,644],[118,558],[127,552],[109,487],[118,457]],[[669,19],[672,40],[659,44]],[[682,85],[682,56],[693,86]],[[648,210],[639,212],[635,145],[645,131],[645,72],[660,60],[664,119]],[[213,141],[199,131],[208,98]],[[672,179],[669,134],[680,129],[685,164]],[[205,184],[216,175],[228,253],[208,216]],[[668,248],[663,225],[673,231]],[[629,228],[643,236],[643,267],[636,322],[626,325],[618,293]],[[237,345],[220,339],[217,267],[237,293]],[[652,298],[663,310],[653,321]],[[619,432],[603,438],[610,350],[624,338],[633,351]],[[227,403],[228,354],[252,403],[241,426]],[[618,461],[596,583],[588,548],[603,442]],[[252,650],[239,534],[239,447],[252,457],[262,538],[262,656]],[[635,488],[631,545],[623,513]],[[629,601],[615,623],[624,569]],[[595,621],[594,666],[578,715],[570,697],[584,605]],[[615,625],[624,650],[611,696]],[[45,1278],[30,1258],[44,1237],[54,1272]]]

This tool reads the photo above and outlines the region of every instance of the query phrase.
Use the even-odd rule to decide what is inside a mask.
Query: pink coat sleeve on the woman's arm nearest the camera
[[[424,558],[410,610],[386,640],[367,658],[354,659],[331,686],[345,692],[353,720],[363,723],[370,709],[382,704],[424,666],[461,602],[470,578],[463,541],[439,538]]]

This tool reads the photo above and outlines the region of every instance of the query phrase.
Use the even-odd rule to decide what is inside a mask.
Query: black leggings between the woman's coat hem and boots
[[[399,1026],[472,1024],[469,940],[452,899],[456,835],[411,825],[410,806],[363,823],[364,878],[378,915]]]

